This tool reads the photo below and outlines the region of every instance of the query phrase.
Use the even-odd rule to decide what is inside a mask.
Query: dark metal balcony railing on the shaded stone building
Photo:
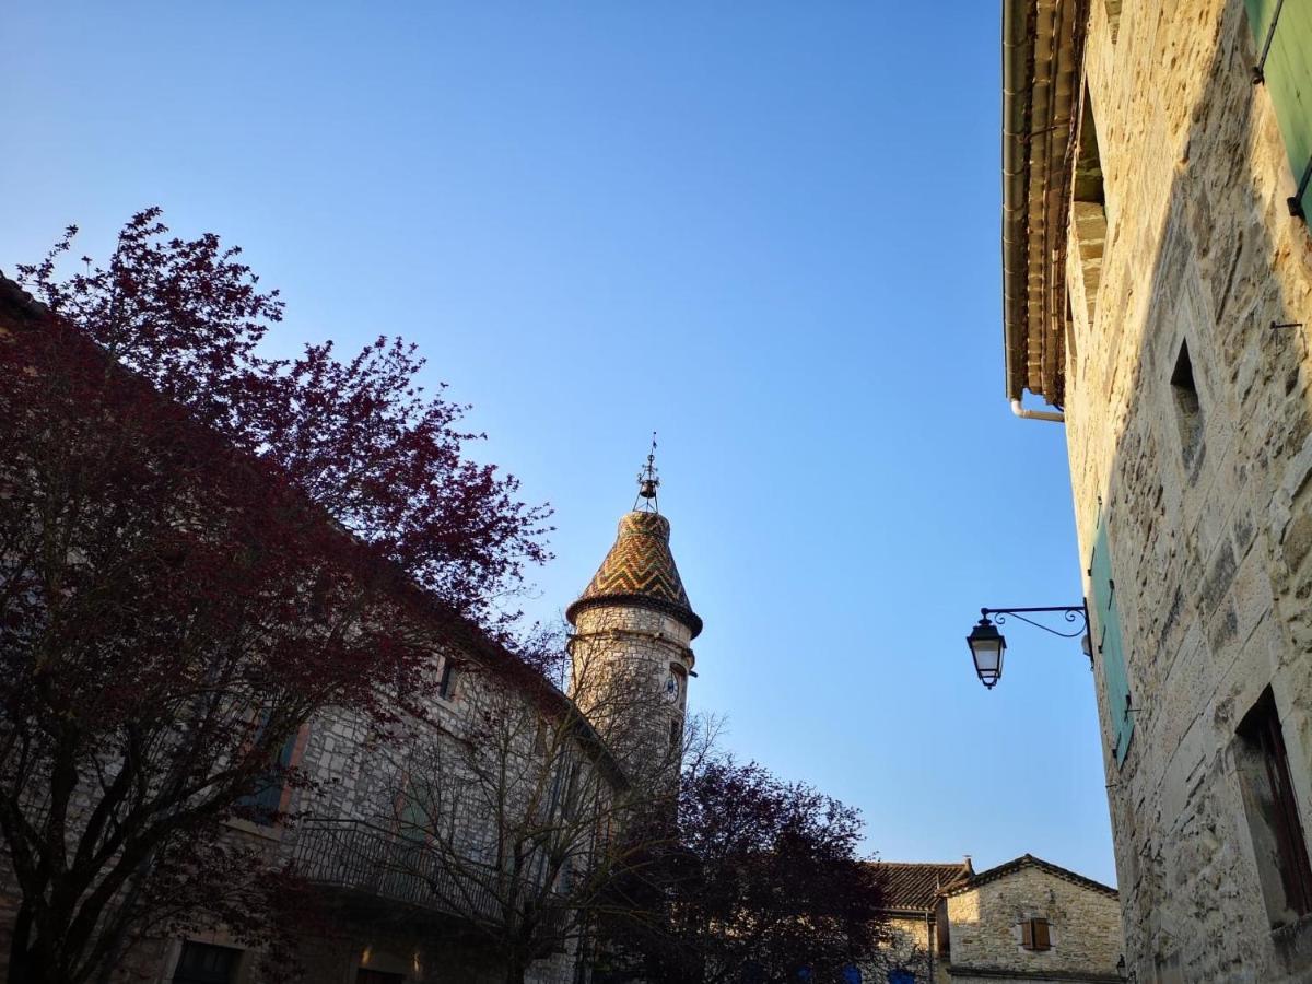
[[[462,861],[459,869],[419,841],[359,820],[304,820],[297,827],[295,866],[315,884],[354,890],[483,924],[504,917],[496,869]]]

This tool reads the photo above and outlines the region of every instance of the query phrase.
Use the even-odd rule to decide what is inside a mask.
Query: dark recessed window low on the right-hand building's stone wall
[[[1312,912],[1312,866],[1270,687],[1244,716],[1237,739],[1236,771],[1258,882],[1274,929]]]

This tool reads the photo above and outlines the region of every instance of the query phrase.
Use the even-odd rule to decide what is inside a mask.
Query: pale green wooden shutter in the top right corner
[[[1275,106],[1275,118],[1290,155],[1295,185],[1305,182],[1312,171],[1312,3],[1308,0],[1244,0],[1248,22],[1257,41],[1257,55],[1271,39],[1262,79]],[[1275,30],[1271,30],[1273,21]],[[1312,182],[1290,199],[1291,210],[1312,213]],[[1295,202],[1298,209],[1294,209]]]

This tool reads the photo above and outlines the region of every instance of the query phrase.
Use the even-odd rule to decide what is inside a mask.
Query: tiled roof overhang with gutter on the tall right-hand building
[[[1088,0],[1002,0],[1002,342],[1006,396],[1060,407],[1065,245]]]

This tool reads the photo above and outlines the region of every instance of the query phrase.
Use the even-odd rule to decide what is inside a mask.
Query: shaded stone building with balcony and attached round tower
[[[527,782],[529,787],[560,782],[562,791],[551,794],[559,813],[552,827],[576,841],[564,845],[562,870],[542,886],[547,904],[552,882],[581,876],[577,870],[590,861],[583,854],[596,845],[594,828],[619,823],[626,808],[640,806],[642,796],[664,795],[677,781],[694,660],[689,643],[702,621],[689,605],[670,554],[669,521],[648,501],[621,520],[614,547],[568,609],[577,626],[569,639],[571,697],[468,626],[451,627],[458,644],[442,669],[445,698],[434,708],[440,729],[461,733],[468,719],[487,716],[480,711],[488,710],[491,699],[497,732],[478,744],[518,745],[520,752],[508,760],[518,775],[530,774],[541,760],[560,760],[555,770]],[[454,669],[447,672],[447,665]],[[543,715],[571,728],[556,739],[559,756],[552,753],[552,739],[543,737]],[[496,872],[488,867],[489,845],[517,830],[513,820],[502,820],[499,829],[480,806],[489,792],[501,796],[504,790],[480,789],[461,757],[430,754],[416,766],[412,750],[426,736],[420,726],[413,727],[399,743],[401,753],[390,757],[386,748],[370,743],[366,722],[340,716],[312,722],[302,728],[293,754],[303,757],[294,761],[329,778],[331,795],[315,791],[308,794],[312,799],[303,799],[289,790],[283,807],[312,819],[286,832],[252,830],[243,824],[245,836],[274,841],[338,920],[332,939],[312,938],[302,947],[307,980],[316,984],[504,980],[504,945],[487,924],[504,917],[508,900],[499,896]],[[428,779],[417,794],[415,775],[420,773]],[[589,806],[596,798],[604,802]],[[447,836],[437,829],[445,816],[453,827]],[[537,829],[525,836],[525,844]],[[419,848],[416,834],[422,841]],[[522,904],[522,899],[509,901]],[[560,901],[568,904],[564,897]],[[586,980],[586,929],[585,921],[567,921],[555,937],[547,934],[550,949],[526,979],[531,984]],[[156,976],[150,977],[159,984],[261,980],[257,955],[241,953],[222,933],[172,941],[161,956]],[[189,970],[193,964],[198,970]]]

